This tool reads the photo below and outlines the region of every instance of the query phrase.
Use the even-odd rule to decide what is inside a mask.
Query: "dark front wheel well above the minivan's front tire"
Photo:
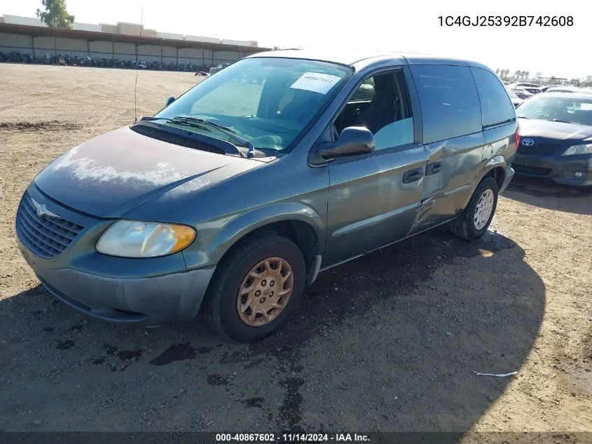
[[[304,257],[306,270],[310,270],[312,260],[314,259],[315,254],[318,251],[319,241],[317,239],[317,234],[315,233],[315,230],[312,229],[312,227],[310,227],[309,224],[307,224],[306,222],[302,222],[300,220],[282,220],[280,222],[273,222],[271,224],[263,225],[263,227],[254,229],[253,231],[250,231],[249,233],[245,234],[245,236],[242,236],[242,238],[240,238],[237,242],[235,242],[228,249],[228,251],[224,253],[222,259],[228,256],[230,253],[232,253],[236,246],[242,243],[242,241],[245,241],[245,239],[270,231],[280,234],[280,236],[289,238],[290,241],[296,243]]]

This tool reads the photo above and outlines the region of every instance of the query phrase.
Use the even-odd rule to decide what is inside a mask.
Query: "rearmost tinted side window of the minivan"
[[[481,68],[471,68],[471,71],[479,91],[483,126],[491,126],[514,119],[516,117],[514,105],[509,100],[508,94],[497,76]]]

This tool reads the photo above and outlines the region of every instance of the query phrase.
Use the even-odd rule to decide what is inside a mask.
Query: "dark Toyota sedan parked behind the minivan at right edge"
[[[536,95],[516,110],[520,121],[516,174],[560,184],[592,185],[592,97]]]

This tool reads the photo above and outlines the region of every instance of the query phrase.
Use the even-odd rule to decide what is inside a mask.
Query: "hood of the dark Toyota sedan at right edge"
[[[537,119],[518,119],[520,137],[542,137],[549,140],[588,142],[592,138],[592,126],[577,123],[553,122]]]

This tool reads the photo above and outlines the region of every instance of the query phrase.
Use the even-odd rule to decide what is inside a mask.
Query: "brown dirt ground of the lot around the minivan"
[[[196,79],[140,72],[138,115]],[[436,230],[321,274],[253,345],[55,300],[18,250],[18,201],[59,154],[133,121],[134,83],[0,65],[0,430],[592,431],[592,196],[565,187],[516,180],[481,241]]]

